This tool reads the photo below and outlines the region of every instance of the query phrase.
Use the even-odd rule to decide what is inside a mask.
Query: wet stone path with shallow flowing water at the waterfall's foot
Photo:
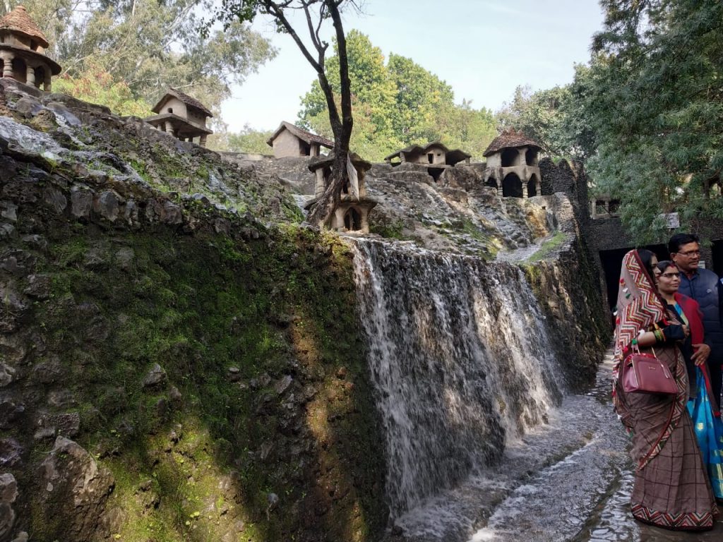
[[[643,525],[630,515],[628,436],[612,411],[612,356],[586,395],[565,397],[549,423],[510,443],[500,465],[443,491],[395,525],[388,542],[723,541],[723,518],[706,533]]]

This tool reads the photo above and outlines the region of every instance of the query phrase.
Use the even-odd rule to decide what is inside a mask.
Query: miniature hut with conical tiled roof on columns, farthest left
[[[18,6],[0,19],[0,73],[2,77],[50,92],[51,78],[61,72],[56,61],[45,55],[48,39]]]

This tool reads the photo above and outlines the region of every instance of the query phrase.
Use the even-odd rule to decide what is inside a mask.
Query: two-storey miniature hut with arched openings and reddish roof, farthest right
[[[542,194],[538,153],[540,146],[522,132],[505,130],[484,151],[484,184],[495,186],[502,197]]]

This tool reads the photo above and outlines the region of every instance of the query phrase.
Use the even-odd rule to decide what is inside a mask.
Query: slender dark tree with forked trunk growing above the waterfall
[[[257,14],[273,17],[277,29],[294,39],[304,58],[317,72],[329,110],[331,129],[334,132],[334,163],[331,181],[307,219],[309,223],[319,227],[327,223],[335,207],[339,204],[341,189],[347,179],[346,162],[349,153],[349,139],[354,126],[354,119],[351,116],[351,83],[349,82],[346,56],[346,35],[341,22],[341,11],[346,7],[357,11],[360,9],[359,3],[355,0],[227,0],[223,2],[223,7],[216,12],[214,18],[214,20],[228,25],[236,19],[252,21]],[[304,13],[307,24],[303,33],[308,33],[311,46],[307,46],[307,43],[301,38],[301,30],[297,30],[291,25],[288,19],[290,10],[299,10]],[[329,44],[320,38],[320,30],[322,24],[327,20],[331,20],[333,24],[338,48],[341,111],[337,106],[333,89],[325,72],[325,57]]]

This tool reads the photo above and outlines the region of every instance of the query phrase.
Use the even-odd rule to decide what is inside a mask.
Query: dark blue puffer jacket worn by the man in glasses
[[[680,273],[678,291],[698,301],[703,311],[703,327],[706,328],[706,343],[711,347],[710,361],[723,363],[723,285],[711,270],[699,269],[691,278]]]

